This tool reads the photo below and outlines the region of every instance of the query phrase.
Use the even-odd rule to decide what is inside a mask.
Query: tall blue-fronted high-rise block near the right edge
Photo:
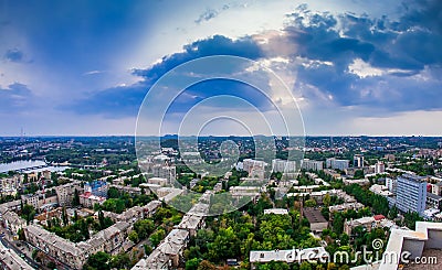
[[[398,176],[396,205],[398,209],[417,212],[420,215],[425,210],[427,182],[424,177],[403,174]]]

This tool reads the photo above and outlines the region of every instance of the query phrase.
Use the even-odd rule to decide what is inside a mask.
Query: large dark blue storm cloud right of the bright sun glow
[[[284,30],[298,55],[333,65],[301,66],[296,87],[316,88],[303,95],[317,105],[330,97],[327,101],[335,106],[365,106],[368,115],[442,109],[441,2],[404,7],[407,12],[398,20],[298,8]],[[357,58],[383,74],[350,73]]]

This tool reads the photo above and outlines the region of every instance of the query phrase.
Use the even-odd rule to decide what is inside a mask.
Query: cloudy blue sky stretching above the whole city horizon
[[[266,133],[276,107],[299,114],[303,127],[285,120],[309,136],[441,136],[441,47],[439,0],[0,0],[0,136],[176,133],[182,122]],[[249,84],[197,82],[167,115],[144,112],[154,93],[178,90],[178,79],[152,90],[170,71],[215,55],[248,58],[286,89],[251,64],[241,66]]]

